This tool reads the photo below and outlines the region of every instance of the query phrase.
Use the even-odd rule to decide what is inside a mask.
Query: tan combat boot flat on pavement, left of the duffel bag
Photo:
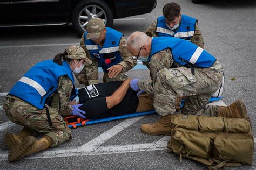
[[[151,135],[170,135],[171,134],[171,118],[172,114],[161,116],[159,121],[153,124],[143,124],[140,126],[140,130],[143,133],[151,134]]]

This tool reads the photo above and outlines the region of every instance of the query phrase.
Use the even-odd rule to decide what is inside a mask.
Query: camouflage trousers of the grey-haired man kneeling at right
[[[154,108],[161,115],[174,114],[177,95],[186,98],[183,114],[214,114],[218,107],[206,107],[210,97],[221,85],[221,72],[209,69],[191,69],[186,67],[164,68],[159,70],[154,87]]]

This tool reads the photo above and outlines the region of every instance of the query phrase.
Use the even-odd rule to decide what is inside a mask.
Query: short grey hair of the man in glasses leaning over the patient
[[[144,32],[133,32],[127,39],[127,46],[139,51],[140,47],[147,45],[148,36]]]

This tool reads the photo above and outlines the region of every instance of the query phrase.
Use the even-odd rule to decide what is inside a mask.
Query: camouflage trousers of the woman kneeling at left
[[[32,131],[45,133],[52,139],[51,147],[72,139],[71,131],[58,111],[49,107],[52,126],[48,124],[46,109],[38,110],[32,105],[13,98],[6,98],[3,108],[10,121],[26,126]]]

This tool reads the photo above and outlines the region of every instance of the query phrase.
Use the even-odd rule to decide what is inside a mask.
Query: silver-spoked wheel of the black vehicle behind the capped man
[[[80,36],[86,31],[89,19],[102,18],[107,27],[113,25],[113,13],[108,4],[101,0],[82,1],[75,6],[72,13],[72,22]]]

